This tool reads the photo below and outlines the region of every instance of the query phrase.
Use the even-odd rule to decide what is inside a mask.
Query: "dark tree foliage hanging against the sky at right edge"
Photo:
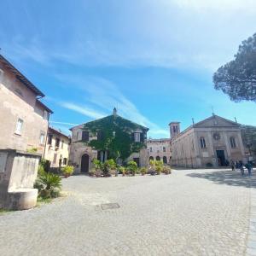
[[[256,33],[241,43],[235,60],[218,68],[213,83],[232,101],[256,102]]]

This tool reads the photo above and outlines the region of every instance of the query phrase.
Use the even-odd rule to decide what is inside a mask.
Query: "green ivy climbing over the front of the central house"
[[[133,132],[137,129],[143,131],[141,143],[134,142]],[[87,144],[97,151],[107,151],[108,159],[114,160],[125,160],[131,153],[139,152],[141,148],[145,147],[144,137],[148,131],[142,125],[132,123],[119,115],[110,115],[87,123],[84,125],[84,130],[90,131],[97,137]]]

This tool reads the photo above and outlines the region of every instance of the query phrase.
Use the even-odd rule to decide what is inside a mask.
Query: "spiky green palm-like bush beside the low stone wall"
[[[53,173],[44,172],[40,174],[34,188],[38,189],[38,196],[53,198],[60,195],[61,177]]]

